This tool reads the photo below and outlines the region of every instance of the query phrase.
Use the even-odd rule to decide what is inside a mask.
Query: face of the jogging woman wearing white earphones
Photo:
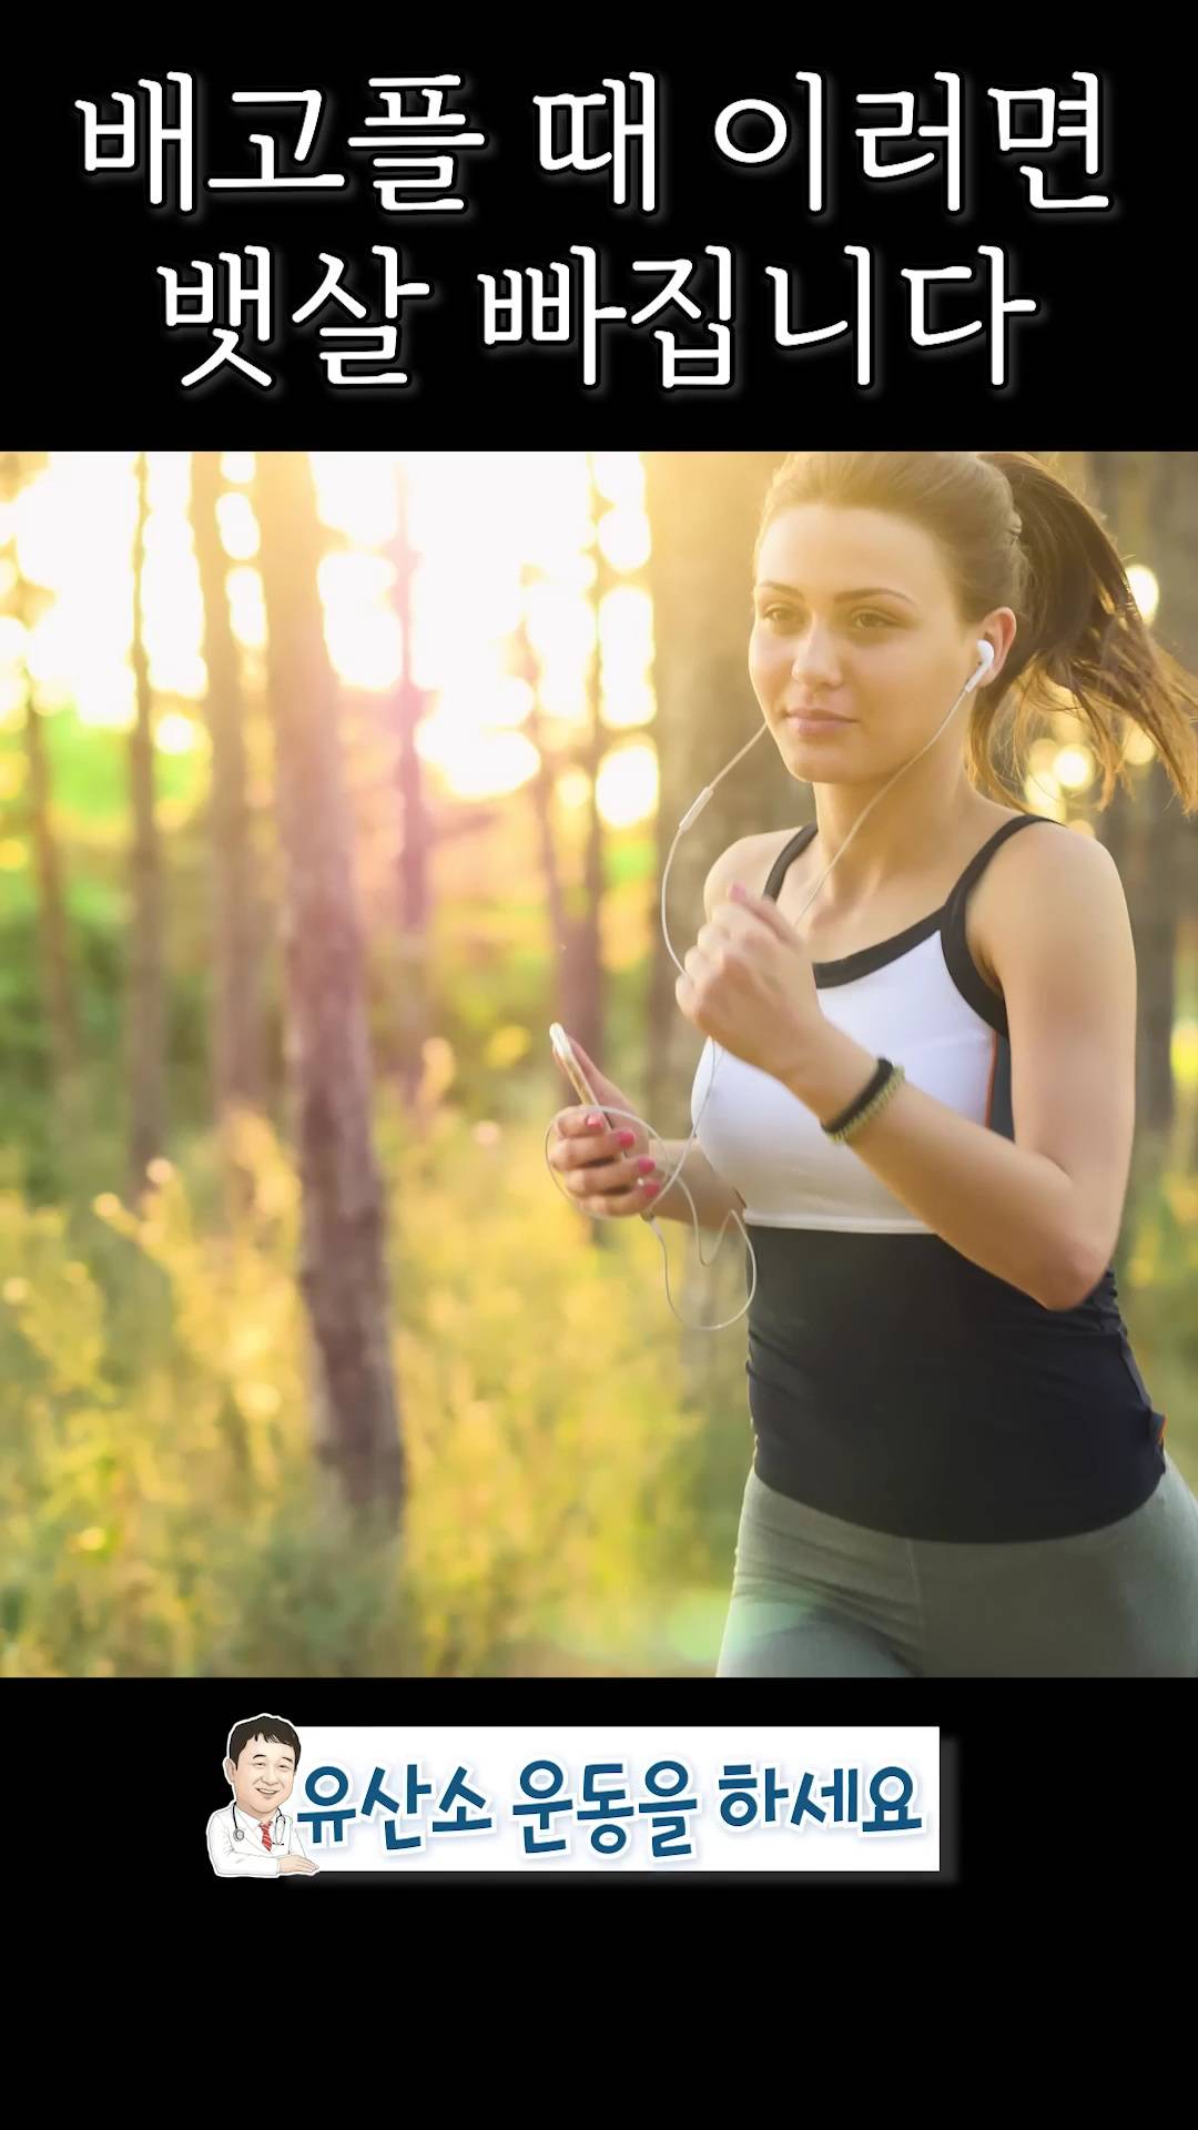
[[[936,541],[887,511],[782,511],[761,541],[752,599],[748,673],[804,782],[874,777],[910,758],[976,667],[983,628],[959,620]],[[1010,609],[1000,616],[1015,626]],[[993,677],[1006,628],[987,633],[1000,654]],[[799,709],[846,722],[806,728]]]

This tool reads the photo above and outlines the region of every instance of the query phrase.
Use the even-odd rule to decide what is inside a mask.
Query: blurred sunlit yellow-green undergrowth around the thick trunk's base
[[[298,1184],[269,1125],[241,1120],[232,1227],[198,1216],[205,1142],[139,1216],[0,1193],[6,1676],[661,1668],[644,1623],[708,1570],[701,1421],[644,1229],[590,1248],[541,1129],[382,1103],[409,1502],[373,1553],[311,1480]]]

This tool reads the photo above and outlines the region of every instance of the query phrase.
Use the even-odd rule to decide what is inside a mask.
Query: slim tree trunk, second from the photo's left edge
[[[166,997],[162,963],[162,856],[153,818],[153,720],[145,652],[147,454],[136,454],[136,535],[132,558],[132,645],[136,718],[130,731],[132,933],[128,973],[128,1201],[145,1191],[149,1163],[166,1148]]]

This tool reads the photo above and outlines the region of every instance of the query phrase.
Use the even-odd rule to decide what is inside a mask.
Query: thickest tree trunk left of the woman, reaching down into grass
[[[371,1135],[362,937],[339,692],[318,596],[320,528],[303,452],[256,481],[284,873],[288,1069],[303,1186],[301,1289],[315,1451],[358,1521],[399,1525],[405,1459],[388,1333],[386,1216]]]

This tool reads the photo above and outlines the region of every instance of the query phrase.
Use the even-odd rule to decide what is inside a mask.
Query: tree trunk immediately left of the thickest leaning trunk
[[[230,1129],[241,1105],[264,1110],[262,1020],[258,1010],[258,878],[245,758],[241,662],[226,594],[217,528],[220,452],[192,452],[192,528],[203,594],[203,654],[211,735],[211,892],[213,892],[213,1097],[226,1144],[226,1186],[241,1199]]]

